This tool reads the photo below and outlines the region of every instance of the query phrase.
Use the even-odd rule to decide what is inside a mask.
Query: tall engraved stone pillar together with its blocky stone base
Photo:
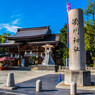
[[[69,70],[65,70],[64,83],[76,82],[78,86],[91,85],[90,71],[85,70],[85,45],[83,11],[69,11]],[[69,77],[68,77],[69,76]]]

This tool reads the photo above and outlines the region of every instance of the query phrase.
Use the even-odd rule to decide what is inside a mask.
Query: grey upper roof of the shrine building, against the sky
[[[51,34],[51,31],[49,29],[49,26],[45,27],[36,27],[36,28],[22,28],[18,29],[18,32],[8,37],[9,39],[15,39],[15,38],[31,38],[31,37],[39,37]]]

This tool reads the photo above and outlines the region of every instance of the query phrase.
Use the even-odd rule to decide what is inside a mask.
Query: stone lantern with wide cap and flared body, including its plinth
[[[42,61],[41,65],[38,65],[38,70],[47,70],[47,71],[57,71],[58,66],[55,65],[55,62],[53,61],[53,58],[51,56],[52,54],[52,48],[54,48],[53,45],[43,45],[42,47],[45,48],[45,57]]]

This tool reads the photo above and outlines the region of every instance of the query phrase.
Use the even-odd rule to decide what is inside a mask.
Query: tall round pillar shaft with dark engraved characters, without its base
[[[69,43],[69,69],[85,70],[84,25],[81,9],[69,11]]]

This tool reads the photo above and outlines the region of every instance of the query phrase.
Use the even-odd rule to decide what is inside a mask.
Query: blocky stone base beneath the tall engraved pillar
[[[91,85],[91,74],[90,71],[80,70],[71,71],[66,70],[64,73],[64,83],[70,85],[72,82],[76,82],[77,86],[90,86]]]

